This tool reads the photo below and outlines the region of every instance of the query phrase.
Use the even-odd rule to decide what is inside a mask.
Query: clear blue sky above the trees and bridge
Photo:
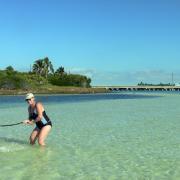
[[[92,85],[180,82],[178,0],[0,0],[0,69],[46,56]]]

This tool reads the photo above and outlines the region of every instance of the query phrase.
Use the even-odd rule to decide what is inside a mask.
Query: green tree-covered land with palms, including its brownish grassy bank
[[[18,72],[12,66],[0,70],[1,94],[10,91],[33,91],[37,93],[102,92],[102,90],[92,90],[90,83],[90,78],[80,74],[67,73],[62,66],[54,71],[48,57],[35,61],[30,72]]]

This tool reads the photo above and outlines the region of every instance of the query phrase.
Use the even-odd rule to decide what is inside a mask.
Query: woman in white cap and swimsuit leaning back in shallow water
[[[29,104],[29,118],[28,120],[24,120],[23,123],[27,125],[33,125],[34,123],[36,124],[36,127],[30,135],[30,144],[35,144],[36,140],[38,139],[39,145],[45,146],[44,141],[52,127],[51,120],[46,115],[42,103],[36,102],[32,93],[28,93],[25,100]]]

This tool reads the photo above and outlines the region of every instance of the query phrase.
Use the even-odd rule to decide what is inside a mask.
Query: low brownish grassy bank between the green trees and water
[[[0,89],[0,95],[24,95],[32,92],[34,94],[97,94],[109,93],[105,88],[80,88],[80,87],[48,87],[39,89]]]

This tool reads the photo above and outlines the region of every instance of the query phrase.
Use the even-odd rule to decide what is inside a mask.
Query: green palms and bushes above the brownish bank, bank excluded
[[[0,70],[1,89],[32,89],[43,85],[90,87],[91,79],[67,73],[63,66],[54,70],[48,57],[34,62],[29,72],[18,72],[12,66]]]

